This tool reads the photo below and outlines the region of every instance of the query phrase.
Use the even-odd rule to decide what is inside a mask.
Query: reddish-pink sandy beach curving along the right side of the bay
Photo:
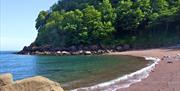
[[[126,51],[111,54],[158,57],[162,59],[148,78],[118,91],[180,91],[180,60],[179,58],[178,60],[173,58],[180,54],[179,48]],[[170,58],[163,60],[165,56]],[[168,63],[169,61],[172,63]]]

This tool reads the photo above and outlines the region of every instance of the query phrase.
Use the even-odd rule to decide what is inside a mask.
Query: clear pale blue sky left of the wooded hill
[[[35,20],[58,0],[0,0],[0,51],[18,51],[37,36]]]

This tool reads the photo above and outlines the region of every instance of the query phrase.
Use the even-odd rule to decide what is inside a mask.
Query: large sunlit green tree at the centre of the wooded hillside
[[[84,13],[84,29],[88,33],[88,41],[90,44],[101,44],[111,37],[114,28],[112,23],[102,22],[101,12],[97,11],[93,6],[88,6],[83,10]]]

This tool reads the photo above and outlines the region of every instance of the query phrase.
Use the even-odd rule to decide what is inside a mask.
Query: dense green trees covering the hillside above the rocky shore
[[[180,42],[180,0],[59,0],[36,20],[37,46],[158,47]]]

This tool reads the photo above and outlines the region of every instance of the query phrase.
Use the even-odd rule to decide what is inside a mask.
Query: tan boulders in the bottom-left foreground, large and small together
[[[15,82],[10,82],[12,75],[0,75],[0,79],[8,83],[0,86],[0,91],[64,91],[59,83],[53,82],[45,77],[36,76]]]

